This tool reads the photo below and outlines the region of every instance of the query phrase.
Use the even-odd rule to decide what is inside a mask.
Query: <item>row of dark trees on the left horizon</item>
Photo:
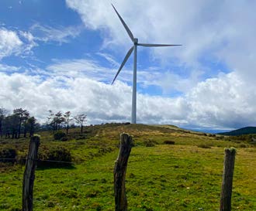
[[[49,111],[49,117],[45,124],[39,124],[36,118],[29,114],[29,111],[22,108],[17,108],[10,114],[5,108],[0,107],[0,137],[5,135],[5,138],[20,138],[29,134],[33,136],[35,131],[53,130],[54,132],[61,128],[66,129],[66,133],[70,128],[76,127],[78,124],[81,127],[81,133],[86,122],[85,114],[71,115],[71,111],[67,111],[64,114],[59,111],[54,114],[53,111]]]

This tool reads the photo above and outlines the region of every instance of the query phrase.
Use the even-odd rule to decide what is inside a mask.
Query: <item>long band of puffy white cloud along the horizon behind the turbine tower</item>
[[[131,87],[117,81],[111,86],[88,77],[29,76],[0,73],[2,107],[24,107],[40,120],[47,111],[71,111],[88,115],[88,124],[130,121]],[[249,85],[249,86],[248,86]],[[256,85],[236,73],[198,83],[184,97],[137,95],[137,121],[176,124],[181,127],[237,128],[255,125]]]

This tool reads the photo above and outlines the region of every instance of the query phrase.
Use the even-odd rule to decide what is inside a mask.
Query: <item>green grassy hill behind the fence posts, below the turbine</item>
[[[112,172],[122,132],[134,141],[126,172],[129,210],[217,210],[223,151],[231,146],[237,148],[232,210],[256,207],[256,148],[243,140],[171,125],[102,124],[79,131],[72,129],[66,141],[40,133],[42,158],[65,148],[74,164],[46,162],[36,169],[34,210],[113,210]],[[0,139],[0,151],[16,149],[18,158],[26,156],[28,145],[28,138]],[[21,210],[23,171],[23,165],[0,162],[0,210]]]

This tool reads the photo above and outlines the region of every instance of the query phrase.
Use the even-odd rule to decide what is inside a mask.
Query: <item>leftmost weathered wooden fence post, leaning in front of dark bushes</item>
[[[26,158],[26,167],[23,175],[22,211],[33,211],[33,185],[39,145],[39,135],[35,135],[30,138],[29,153]]]

